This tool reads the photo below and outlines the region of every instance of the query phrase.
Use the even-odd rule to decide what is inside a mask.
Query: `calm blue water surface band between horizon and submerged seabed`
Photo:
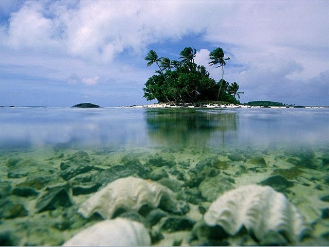
[[[328,109],[0,109],[0,149],[326,146]]]

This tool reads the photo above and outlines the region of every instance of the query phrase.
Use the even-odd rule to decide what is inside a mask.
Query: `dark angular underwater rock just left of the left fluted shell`
[[[53,210],[58,207],[68,207],[72,205],[70,196],[65,186],[50,188],[42,195],[35,204],[36,212]]]

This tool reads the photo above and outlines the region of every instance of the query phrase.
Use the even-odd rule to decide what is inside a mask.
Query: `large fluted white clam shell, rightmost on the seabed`
[[[224,193],[204,216],[206,224],[220,225],[234,236],[242,226],[262,240],[269,233],[284,233],[290,242],[310,233],[304,217],[270,186],[247,185]]]

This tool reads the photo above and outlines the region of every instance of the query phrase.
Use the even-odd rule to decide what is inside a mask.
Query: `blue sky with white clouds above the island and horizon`
[[[329,105],[327,0],[1,0],[0,105],[155,103],[145,56],[178,60],[185,47],[217,81],[208,56],[221,47],[241,103]]]

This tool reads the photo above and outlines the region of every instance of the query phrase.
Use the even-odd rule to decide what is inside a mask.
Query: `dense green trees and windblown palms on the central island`
[[[202,100],[220,100],[239,104],[241,92],[236,82],[229,83],[224,80],[224,66],[230,58],[224,58],[222,48],[210,52],[210,65],[222,67],[222,79],[216,82],[210,77],[203,65],[194,61],[196,49],[186,47],[180,52],[181,61],[169,58],[158,58],[154,50],[150,50],[145,60],[147,65],[156,64],[159,70],[150,77],[143,88],[147,100],[156,99],[158,102],[193,102]]]

